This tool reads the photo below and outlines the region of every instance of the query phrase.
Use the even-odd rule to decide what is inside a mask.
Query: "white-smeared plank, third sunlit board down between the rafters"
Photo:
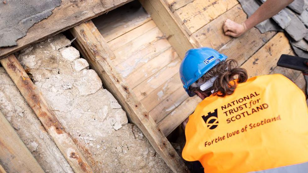
[[[158,39],[153,44],[135,52],[132,56],[116,66],[118,72],[126,78],[133,71],[152,60],[157,55],[169,49],[171,45],[167,39]]]

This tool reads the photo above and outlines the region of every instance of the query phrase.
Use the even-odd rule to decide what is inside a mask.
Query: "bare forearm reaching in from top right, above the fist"
[[[273,17],[294,0],[267,0],[243,24],[249,30],[264,20]]]

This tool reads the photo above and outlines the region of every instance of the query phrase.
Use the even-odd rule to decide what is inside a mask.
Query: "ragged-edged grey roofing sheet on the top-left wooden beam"
[[[10,0],[0,3],[0,47],[17,45],[35,23],[47,18],[61,0]]]

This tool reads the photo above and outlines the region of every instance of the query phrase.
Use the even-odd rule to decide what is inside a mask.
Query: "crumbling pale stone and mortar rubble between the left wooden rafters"
[[[172,172],[140,129],[128,123],[121,105],[102,87],[99,76],[89,69],[86,60],[80,58],[78,50],[66,45],[69,45],[69,40],[58,34],[20,51],[16,56],[92,169],[95,172]],[[6,75],[3,69],[1,74]],[[13,83],[12,86],[15,87]],[[15,90],[19,94],[17,88]],[[10,103],[14,103],[11,114],[17,112],[14,117],[36,118],[26,102],[19,104],[19,100],[24,101],[20,94],[19,97],[13,96],[12,100],[18,100]],[[1,111],[8,109],[6,104],[0,103],[0,106]],[[18,106],[16,110],[14,106]],[[9,111],[3,113],[8,119],[13,116]],[[30,123],[25,126],[12,119],[10,122],[19,133],[25,128],[32,133],[30,128],[41,126],[32,127]],[[44,128],[39,129],[42,131],[36,134],[39,140],[23,138],[33,153],[45,146],[43,139],[50,139]],[[59,151],[57,154],[54,151],[58,151],[57,148],[49,155],[63,157]],[[46,160],[45,155],[47,153],[40,157],[34,154],[40,164]],[[41,166],[45,171],[71,172],[65,159],[64,162],[49,160]],[[55,164],[65,169],[55,170]]]

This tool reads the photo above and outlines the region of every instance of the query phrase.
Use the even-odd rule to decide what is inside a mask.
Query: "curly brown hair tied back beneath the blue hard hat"
[[[213,86],[207,90],[202,91],[200,90],[200,87],[192,86],[190,86],[188,90],[191,92],[203,93],[206,97],[210,96],[212,94],[211,91],[214,90],[213,95],[224,97],[233,94],[236,84],[230,81],[233,81],[235,77],[238,79],[238,83],[246,82],[248,78],[247,71],[243,68],[239,68],[236,60],[227,60],[221,61],[219,64],[214,66],[211,70],[200,77],[196,83],[204,83],[215,76],[217,79],[214,81]]]

